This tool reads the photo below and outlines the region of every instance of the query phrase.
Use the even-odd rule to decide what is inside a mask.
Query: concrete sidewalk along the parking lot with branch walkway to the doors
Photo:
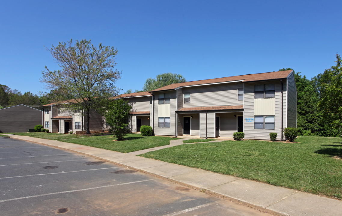
[[[136,156],[145,152],[181,145],[182,140],[170,141],[170,145],[145,149],[132,153],[120,153],[73,143],[11,135],[12,138],[71,150],[124,165],[135,170],[170,179],[206,191],[219,197],[226,197],[238,203],[257,207],[273,214],[287,216],[338,216],[342,215],[342,202],[310,193],[276,187],[260,182],[222,175],[196,168],[171,164],[159,160]],[[219,142],[219,141],[211,141]]]

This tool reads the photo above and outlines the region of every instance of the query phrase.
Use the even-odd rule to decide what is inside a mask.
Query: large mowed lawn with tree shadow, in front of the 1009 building
[[[342,199],[342,139],[300,136],[297,143],[223,141],[142,154],[146,158]]]

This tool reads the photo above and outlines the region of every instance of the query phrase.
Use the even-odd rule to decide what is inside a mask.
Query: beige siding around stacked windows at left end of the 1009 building
[[[176,90],[174,91],[162,91],[158,93],[170,93],[170,114],[168,116],[163,117],[170,117],[170,127],[169,128],[159,128],[158,127],[158,94],[155,94],[155,117],[154,117],[154,133],[156,135],[168,135],[168,136],[174,136],[175,135],[175,111],[176,111]],[[152,116],[152,115],[151,115]]]

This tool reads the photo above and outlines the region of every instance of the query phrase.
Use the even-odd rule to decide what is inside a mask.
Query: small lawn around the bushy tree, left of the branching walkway
[[[124,136],[124,140],[122,141],[116,141],[116,138],[113,137],[113,134],[111,134],[105,136],[91,136],[87,138],[63,140],[63,142],[76,143],[96,148],[113,150],[116,152],[128,153],[147,148],[154,148],[157,146],[169,145],[170,140],[176,139],[177,138],[165,136],[142,136],[141,134],[131,133]]]

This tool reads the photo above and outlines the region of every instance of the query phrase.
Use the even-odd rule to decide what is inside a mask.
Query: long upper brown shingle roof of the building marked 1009
[[[149,92],[174,90],[175,88],[184,87],[184,86],[224,83],[224,82],[238,81],[238,80],[241,80],[242,83],[246,83],[246,82],[263,81],[263,80],[285,79],[290,75],[292,71],[293,70],[276,71],[276,72],[268,72],[268,73],[255,73],[255,74],[247,74],[247,75],[239,75],[239,76],[214,78],[214,79],[209,79],[209,80],[198,80],[198,81],[191,81],[191,82],[185,82],[185,83],[175,83],[175,84],[171,84],[171,85],[164,86],[161,88],[157,88]]]

